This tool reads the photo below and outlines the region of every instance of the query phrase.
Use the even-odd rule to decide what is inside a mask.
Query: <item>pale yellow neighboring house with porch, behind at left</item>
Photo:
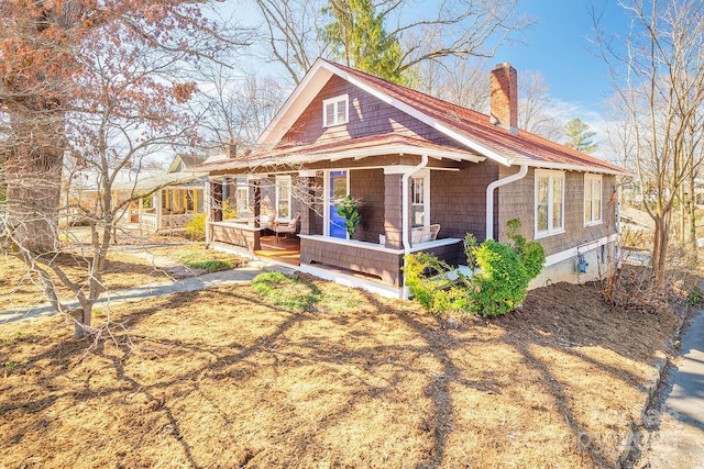
[[[144,194],[130,203],[120,223],[148,233],[183,231],[189,220],[204,212],[206,177],[193,168],[206,160],[199,155],[176,155],[166,172],[140,174],[134,180],[116,183],[117,200]]]

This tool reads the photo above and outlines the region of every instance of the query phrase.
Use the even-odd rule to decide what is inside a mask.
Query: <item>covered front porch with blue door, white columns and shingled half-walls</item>
[[[350,158],[342,153],[333,160],[328,156],[309,161],[305,169],[278,166],[260,172],[258,168],[265,165],[251,169],[252,165],[245,164],[245,168],[211,170],[208,242],[239,246],[265,257],[275,250],[262,243],[271,234],[272,216],[282,223],[292,213],[300,213],[294,235],[299,239],[300,271],[336,280],[341,275],[364,278],[400,295],[406,254],[433,253],[449,264],[462,264],[462,239],[470,232],[466,226],[473,223],[483,235],[487,185],[483,179],[492,177],[479,175],[480,189],[471,202],[454,200],[453,186],[465,185],[460,180],[465,171],[460,169],[477,167],[476,163],[484,158],[464,152],[424,154],[418,148],[405,149],[376,154],[375,166],[370,165],[370,158]],[[235,166],[235,161],[229,165]],[[230,181],[239,181],[237,190],[221,183],[226,175]],[[352,236],[337,213],[338,204],[348,196],[359,202],[362,220]],[[248,202],[233,201],[233,197],[246,197]],[[238,206],[248,205],[250,216],[223,221],[221,206],[226,200]],[[468,209],[472,213],[473,204],[477,210],[472,220],[455,220]],[[283,213],[288,217],[282,217]]]

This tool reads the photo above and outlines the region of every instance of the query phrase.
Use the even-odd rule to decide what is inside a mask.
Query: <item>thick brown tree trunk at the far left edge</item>
[[[4,161],[8,224],[14,242],[34,254],[57,250],[58,208],[64,160],[64,120],[11,115],[11,150]]]

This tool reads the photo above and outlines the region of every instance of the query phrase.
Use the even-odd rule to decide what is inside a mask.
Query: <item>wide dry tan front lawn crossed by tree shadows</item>
[[[308,281],[306,313],[124,303],[90,353],[61,317],[0,326],[0,467],[610,468],[678,324],[590,284],[455,324]]]

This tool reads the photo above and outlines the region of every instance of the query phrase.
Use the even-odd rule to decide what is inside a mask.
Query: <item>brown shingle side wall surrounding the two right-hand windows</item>
[[[499,177],[516,172],[516,168],[501,168]],[[584,226],[584,172],[564,171],[564,233],[537,239],[547,255],[600,239],[616,233],[616,206],[610,200],[616,178],[602,176],[602,223]],[[535,237],[535,169],[516,182],[498,188],[498,239],[506,242],[506,223],[520,219],[520,234]]]

